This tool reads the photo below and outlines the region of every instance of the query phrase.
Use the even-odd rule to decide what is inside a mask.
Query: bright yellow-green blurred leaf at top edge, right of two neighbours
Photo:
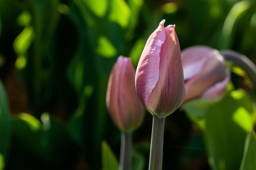
[[[126,28],[130,20],[130,8],[125,0],[110,0],[109,20]]]

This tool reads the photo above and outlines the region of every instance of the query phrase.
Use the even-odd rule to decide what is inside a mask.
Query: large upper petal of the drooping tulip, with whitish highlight
[[[223,57],[217,50],[205,46],[182,51],[186,97],[184,102],[199,97],[209,87],[227,76]]]

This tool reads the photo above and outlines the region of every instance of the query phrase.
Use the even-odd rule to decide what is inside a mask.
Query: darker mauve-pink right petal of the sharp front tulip
[[[173,113],[185,96],[180,44],[174,25],[166,26],[165,36],[160,53],[159,80],[148,104],[148,109],[160,117]]]

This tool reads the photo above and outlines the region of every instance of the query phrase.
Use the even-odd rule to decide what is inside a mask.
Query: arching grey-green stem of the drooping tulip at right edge
[[[256,88],[256,66],[251,60],[249,60],[249,58],[231,50],[222,50],[220,51],[220,54],[225,58],[225,60],[241,67],[252,80],[254,89]]]

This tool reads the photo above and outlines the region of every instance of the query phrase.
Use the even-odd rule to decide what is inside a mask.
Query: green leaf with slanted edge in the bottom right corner
[[[245,141],[245,150],[240,170],[255,170],[256,167],[256,134],[249,132]]]

